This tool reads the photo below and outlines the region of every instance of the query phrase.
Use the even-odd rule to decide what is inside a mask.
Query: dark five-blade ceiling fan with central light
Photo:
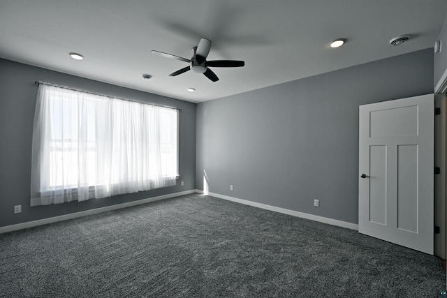
[[[211,40],[207,38],[200,38],[200,42],[197,47],[193,47],[193,57],[191,59],[186,59],[183,57],[175,56],[173,54],[168,54],[164,52],[159,52],[156,50],[152,50],[153,54],[157,54],[166,58],[177,59],[179,61],[184,61],[189,63],[189,66],[185,68],[179,69],[174,73],[171,73],[171,77],[175,77],[176,75],[180,75],[182,73],[186,73],[188,70],[193,70],[194,73],[203,73],[205,77],[212,80],[212,82],[219,81],[219,77],[212,71],[209,67],[242,67],[245,65],[244,61],[238,60],[214,60],[207,61],[208,53],[211,49]]]

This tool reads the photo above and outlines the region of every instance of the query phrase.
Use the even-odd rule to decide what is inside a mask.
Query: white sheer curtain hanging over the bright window
[[[175,185],[177,113],[40,84],[31,206]]]

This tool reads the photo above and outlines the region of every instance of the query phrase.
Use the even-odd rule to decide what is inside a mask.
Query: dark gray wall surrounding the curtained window
[[[36,80],[120,98],[131,98],[182,108],[179,132],[179,171],[181,175],[179,181],[184,181],[184,186],[179,186],[179,181],[177,181],[177,186],[153,191],[117,195],[86,202],[29,207],[31,136],[38,89],[34,84]],[[196,104],[0,59],[0,227],[168,193],[188,191],[195,188],[195,173]],[[21,214],[13,214],[13,206],[17,204],[22,205]]]

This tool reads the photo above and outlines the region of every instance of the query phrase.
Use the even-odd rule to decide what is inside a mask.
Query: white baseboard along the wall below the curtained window
[[[71,213],[71,214],[64,214],[61,216],[43,218],[43,219],[39,219],[38,221],[28,221],[26,223],[17,223],[17,225],[6,225],[6,227],[0,227],[0,234],[6,233],[6,232],[12,232],[15,230],[32,228],[32,227],[36,227],[38,225],[46,225],[47,223],[57,223],[58,221],[66,221],[66,220],[72,219],[72,218],[78,218],[78,217],[87,216],[87,215],[91,215],[91,214],[98,214],[98,213],[105,212],[105,211],[122,209],[122,208],[126,208],[126,207],[140,205],[140,204],[146,204],[149,202],[164,200],[164,199],[168,199],[168,198],[174,198],[174,197],[178,197],[179,195],[189,195],[191,193],[197,193],[197,190],[193,189],[191,191],[181,191],[179,193],[170,193],[168,195],[159,195],[158,197],[154,197],[154,198],[147,198],[147,199],[142,199],[142,200],[137,200],[137,201],[132,201],[132,202],[126,202],[126,203],[122,203],[122,204],[115,204],[115,205],[111,205],[111,206],[107,206],[107,207],[89,209],[89,210],[75,212],[75,213]]]

